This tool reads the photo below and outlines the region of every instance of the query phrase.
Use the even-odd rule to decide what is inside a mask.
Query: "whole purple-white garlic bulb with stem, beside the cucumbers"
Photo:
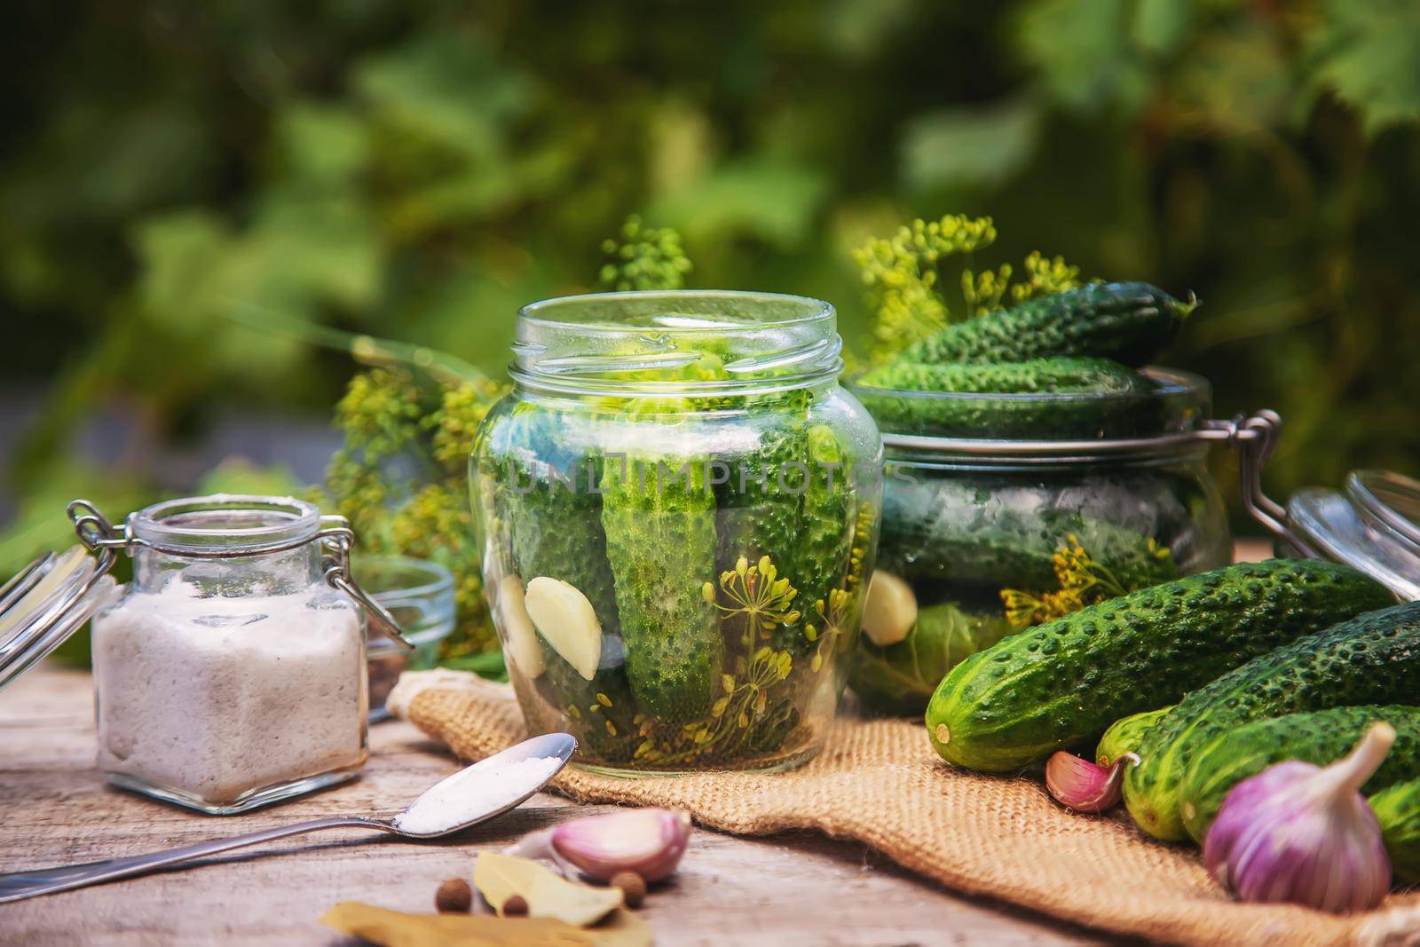
[[[1359,789],[1394,738],[1390,724],[1377,723],[1329,767],[1279,762],[1240,782],[1203,842],[1208,872],[1244,902],[1335,913],[1379,904],[1390,859]]]

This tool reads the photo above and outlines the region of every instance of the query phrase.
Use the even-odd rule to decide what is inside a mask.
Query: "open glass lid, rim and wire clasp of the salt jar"
[[[223,527],[204,528],[202,518],[212,517],[214,511],[224,514]],[[231,517],[240,520],[241,511],[293,521],[312,518],[314,528],[290,531],[290,535],[273,540],[266,535],[270,527],[243,528],[236,522]],[[399,647],[413,649],[389,611],[352,578],[349,551],[355,534],[349,524],[344,517],[321,515],[305,501],[230,494],[168,500],[131,513],[121,527],[115,527],[89,501],[74,500],[68,504],[68,515],[81,545],[40,557],[0,586],[0,687],[47,657],[104,606],[116,588],[108,572],[119,551],[132,555],[151,549],[185,559],[233,559],[317,542],[324,581],[354,599],[375,628]],[[143,524],[163,524],[163,528],[145,530]],[[169,548],[163,537],[176,524],[190,527],[192,535]]]

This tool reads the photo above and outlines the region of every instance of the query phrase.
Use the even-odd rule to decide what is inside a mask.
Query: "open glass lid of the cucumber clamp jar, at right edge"
[[[1299,551],[1343,562],[1406,601],[1420,599],[1420,481],[1356,470],[1340,491],[1296,491],[1287,527],[1284,542]]]

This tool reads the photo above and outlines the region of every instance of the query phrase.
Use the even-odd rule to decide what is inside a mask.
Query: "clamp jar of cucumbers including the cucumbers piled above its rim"
[[[851,680],[869,710],[920,714],[1008,635],[1228,561],[1207,444],[1189,436],[1208,385],[1146,368],[1193,308],[1092,283],[947,325],[848,385],[886,443]]]

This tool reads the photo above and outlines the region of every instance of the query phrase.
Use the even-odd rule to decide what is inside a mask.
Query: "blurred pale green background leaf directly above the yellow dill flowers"
[[[1030,99],[920,115],[903,141],[903,176],[913,187],[997,185],[1031,158],[1041,109]]]

